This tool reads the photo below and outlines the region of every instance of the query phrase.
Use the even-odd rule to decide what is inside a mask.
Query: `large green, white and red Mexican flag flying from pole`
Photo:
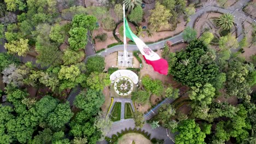
[[[167,75],[168,74],[168,63],[165,59],[159,57],[157,53],[149,49],[149,47],[143,43],[141,39],[139,39],[135,34],[132,33],[129,24],[126,19],[125,20],[125,34],[126,37],[134,41],[142,53],[145,61],[152,65],[155,71],[160,74]]]

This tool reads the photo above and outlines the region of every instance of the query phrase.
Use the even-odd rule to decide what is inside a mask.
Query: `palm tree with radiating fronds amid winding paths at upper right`
[[[229,30],[234,26],[234,17],[231,14],[223,14],[218,18],[217,25],[224,30]]]

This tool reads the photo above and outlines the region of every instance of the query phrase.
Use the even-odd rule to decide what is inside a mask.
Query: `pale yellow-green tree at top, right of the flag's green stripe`
[[[159,2],[155,3],[155,9],[150,10],[149,17],[149,28],[153,31],[159,31],[162,26],[168,25],[168,20],[172,16],[169,10],[167,10],[164,5]]]

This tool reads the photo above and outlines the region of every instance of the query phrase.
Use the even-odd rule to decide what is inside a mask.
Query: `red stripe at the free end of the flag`
[[[144,56],[143,56],[144,57]],[[164,58],[160,58],[156,61],[150,61],[144,57],[147,64],[152,65],[153,69],[155,71],[158,71],[158,73],[167,75],[168,74],[168,63]]]

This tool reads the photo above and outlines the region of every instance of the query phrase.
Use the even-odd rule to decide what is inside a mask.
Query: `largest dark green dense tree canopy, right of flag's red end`
[[[175,80],[188,86],[211,83],[218,73],[218,66],[213,61],[216,57],[214,55],[202,41],[191,41],[185,50],[176,52],[170,74]]]

